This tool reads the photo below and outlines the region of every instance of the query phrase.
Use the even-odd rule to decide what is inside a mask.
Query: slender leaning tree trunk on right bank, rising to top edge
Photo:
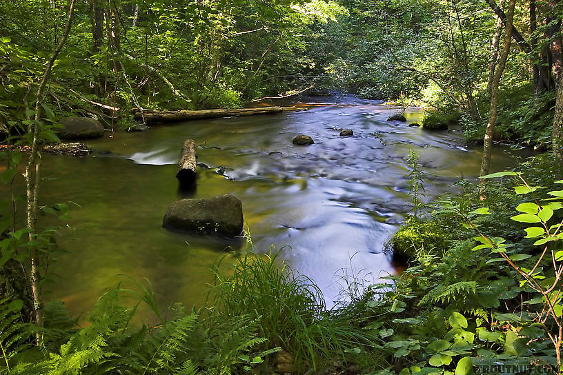
[[[497,121],[497,103],[499,93],[499,83],[506,65],[508,52],[510,52],[510,45],[513,31],[513,18],[516,0],[508,0],[508,13],[506,14],[506,30],[504,32],[504,45],[502,54],[498,62],[498,67],[495,72],[495,77],[491,85],[491,110],[488,113],[488,123],[485,132],[484,146],[483,146],[483,160],[481,163],[481,176],[488,174],[491,166],[491,148],[493,146],[493,132],[495,131],[495,123]],[[482,180],[484,181],[484,180]]]

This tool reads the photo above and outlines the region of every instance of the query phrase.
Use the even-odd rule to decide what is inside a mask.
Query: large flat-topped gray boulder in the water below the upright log
[[[229,237],[241,234],[243,225],[242,203],[232,195],[182,199],[168,207],[162,221],[162,226],[170,230]]]

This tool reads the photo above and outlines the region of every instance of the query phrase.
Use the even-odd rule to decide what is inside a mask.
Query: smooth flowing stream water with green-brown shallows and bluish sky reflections
[[[118,274],[128,274],[150,279],[161,303],[204,300],[209,267],[228,244],[161,227],[168,205],[185,196],[175,172],[186,138],[204,146],[198,162],[212,167],[198,171],[193,196],[238,196],[255,249],[288,246],[283,258],[313,278],[328,305],[343,274],[362,271],[377,279],[394,273],[382,250],[411,209],[404,176],[409,150],[421,154],[430,174],[428,196],[455,191],[450,185],[462,177],[474,179],[481,159],[480,150],[462,147],[460,132],[386,121],[394,112],[345,97],[303,112],[157,125],[90,142],[112,155],[45,156],[43,176],[53,179],[43,183],[43,203],[81,206],[72,210],[72,228],[60,241],[66,252],[50,265],[49,298],[61,298],[79,314],[123,279]],[[419,110],[408,111],[409,122],[420,120]],[[341,138],[342,128],[354,136]],[[315,144],[292,145],[297,134]],[[493,170],[511,163],[506,150],[495,149]],[[233,259],[227,256],[224,265]]]

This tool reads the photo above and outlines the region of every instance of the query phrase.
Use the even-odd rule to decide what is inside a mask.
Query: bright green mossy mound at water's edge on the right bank
[[[391,238],[388,245],[393,257],[413,261],[420,250],[446,249],[447,239],[433,221],[411,218]]]

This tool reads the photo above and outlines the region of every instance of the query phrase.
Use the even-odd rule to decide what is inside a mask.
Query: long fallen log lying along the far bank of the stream
[[[282,107],[242,108],[239,110],[179,110],[179,111],[154,111],[135,110],[135,119],[142,119],[147,123],[164,123],[171,121],[186,121],[197,119],[213,119],[215,117],[252,116],[254,114],[270,114],[283,111]]]

